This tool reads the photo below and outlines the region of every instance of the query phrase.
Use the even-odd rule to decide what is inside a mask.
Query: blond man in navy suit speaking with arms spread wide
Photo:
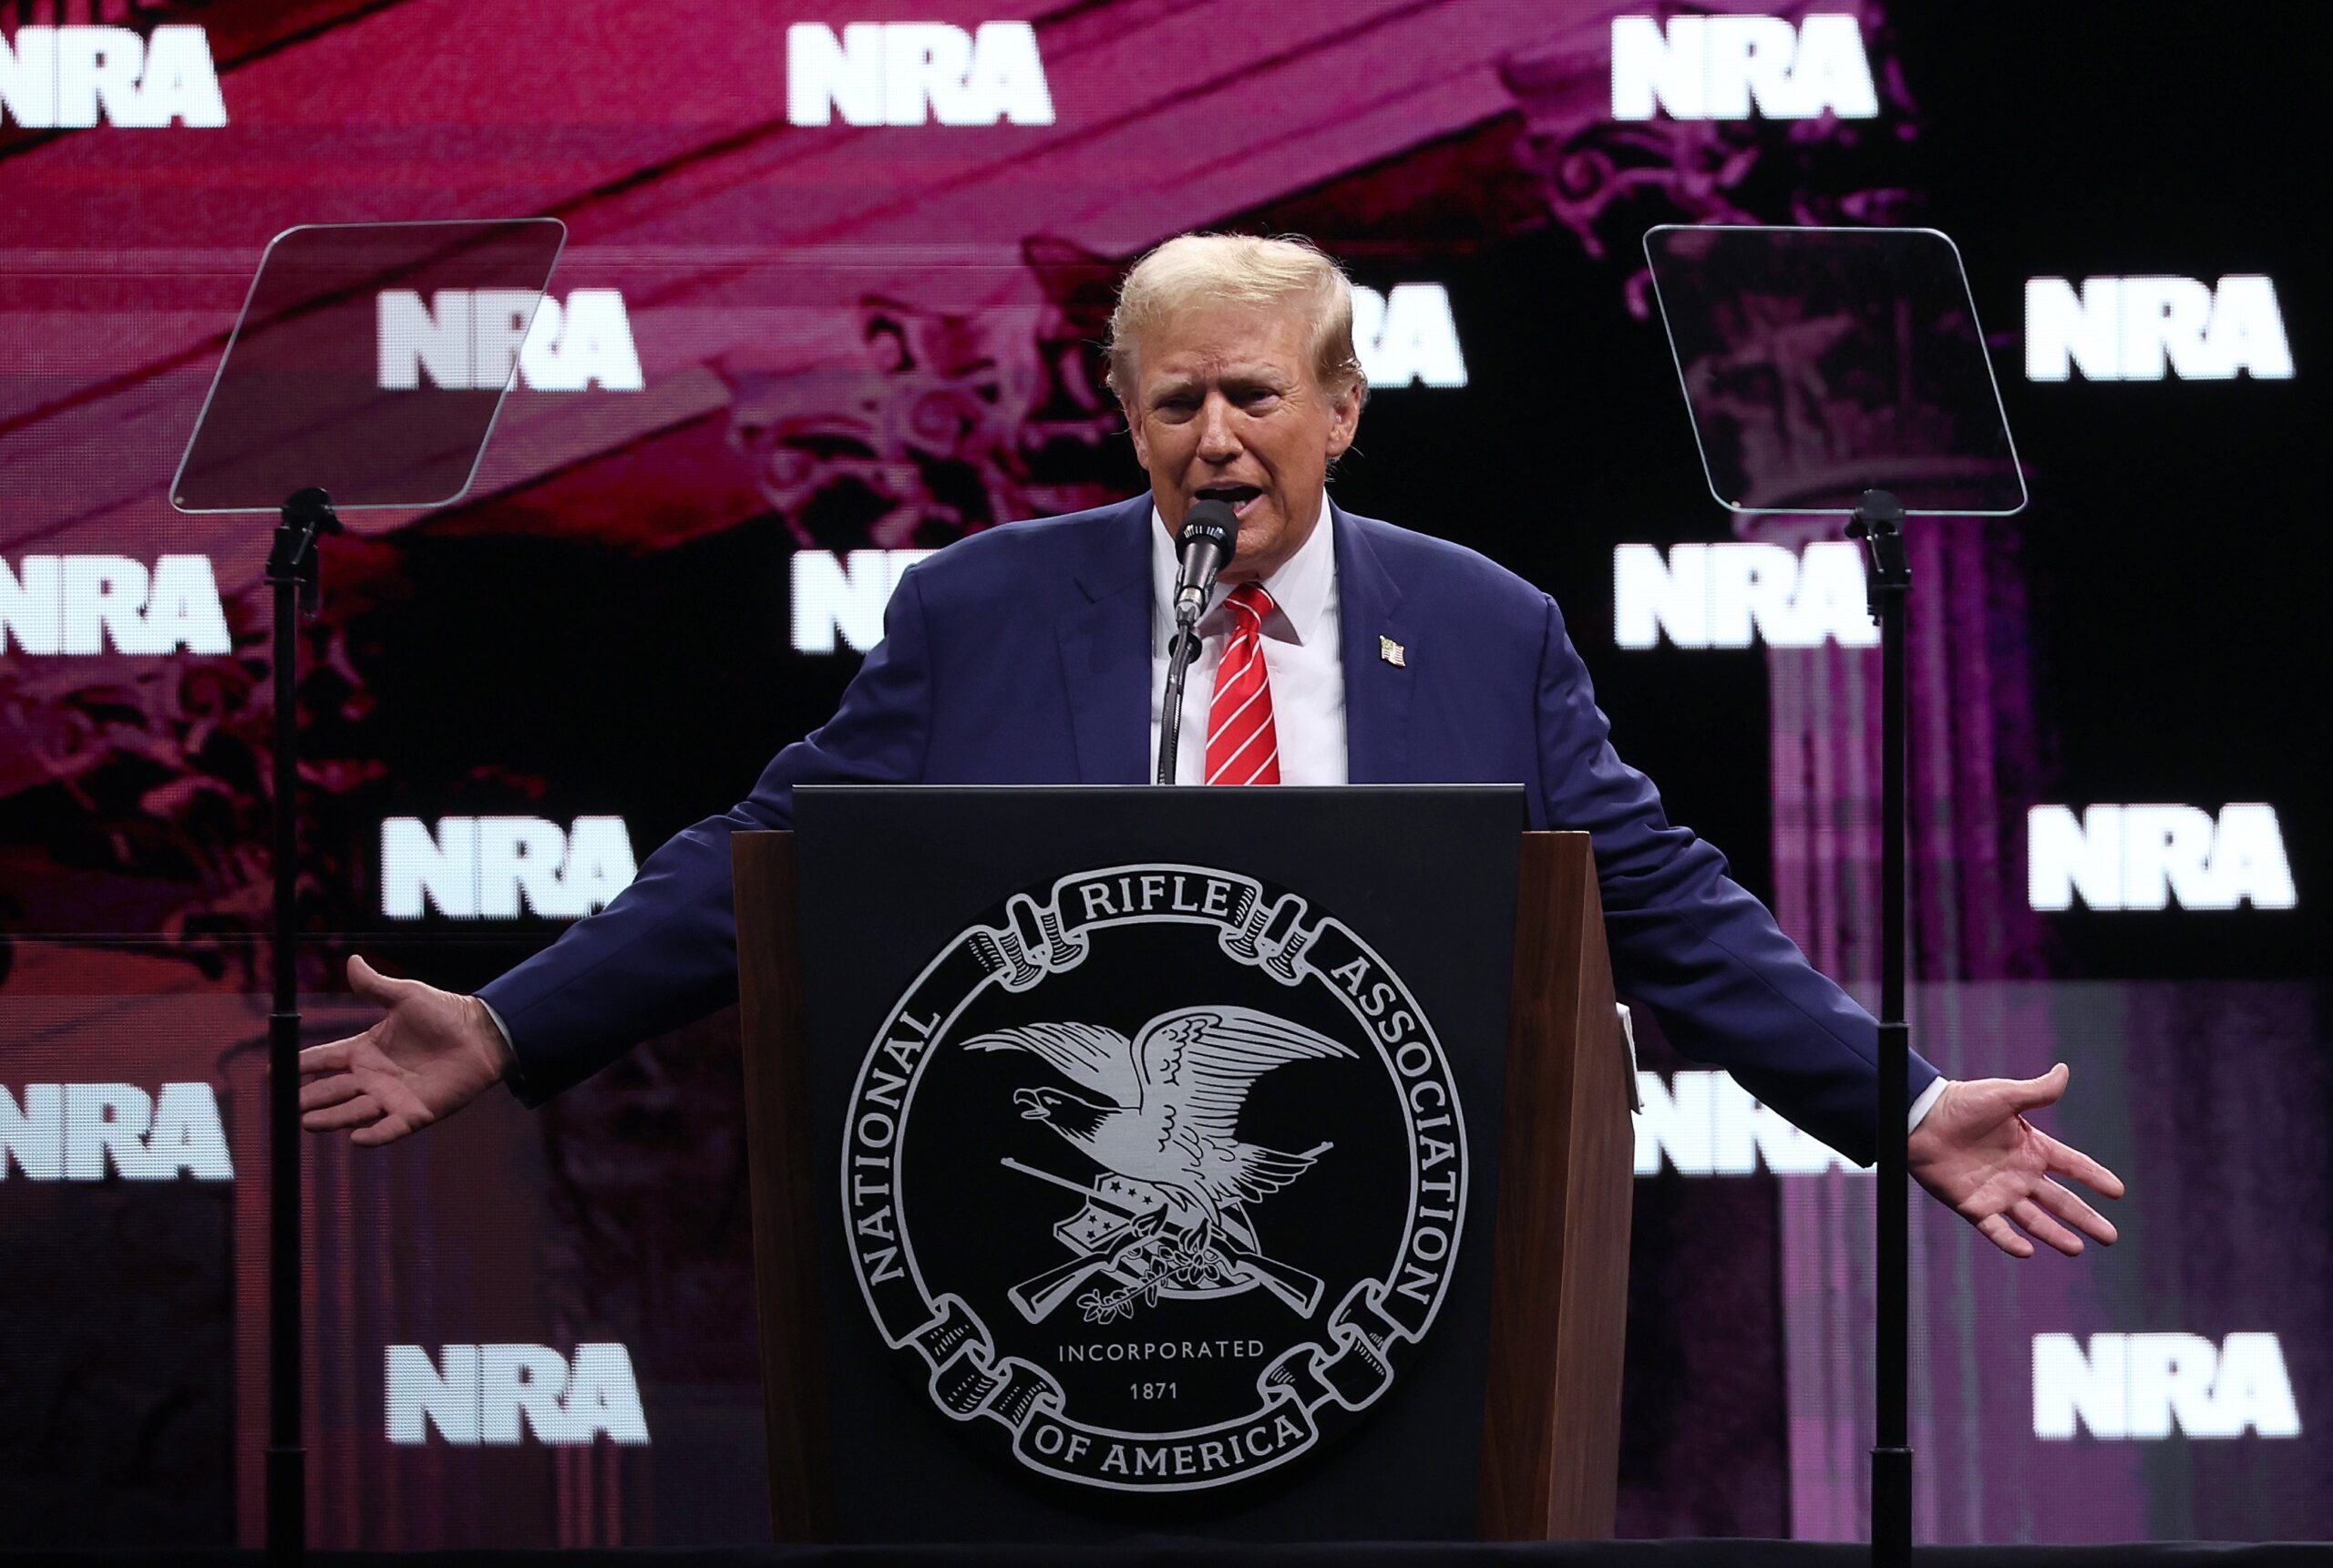
[[[1871,1160],[1873,1020],[1614,756],[1554,600],[1472,551],[1330,504],[1365,385],[1351,292],[1313,247],[1183,236],[1150,252],[1111,320],[1111,387],[1150,495],[975,534],[915,567],[833,721],[478,996],[352,959],[357,994],[387,1015],[303,1055],[306,1125],[387,1143],[497,1080],[541,1104],[730,1001],[728,835],[789,826],[796,784],[1155,777],[1171,539],[1215,497],[1239,516],[1239,548],[1199,623],[1178,782],[1523,784],[1530,826],[1593,835],[1619,989],[1680,1050]],[[1911,1064],[1913,1176],[2020,1258],[2032,1239],[2065,1253],[2114,1241],[2051,1176],[2109,1197],[2121,1181],[2020,1115],[2065,1080],[2058,1066],[1946,1083]]]

